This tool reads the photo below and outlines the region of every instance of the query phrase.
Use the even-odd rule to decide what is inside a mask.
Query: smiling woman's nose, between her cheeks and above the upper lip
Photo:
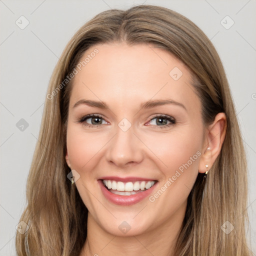
[[[143,143],[133,134],[131,127],[123,131],[116,127],[116,134],[109,141],[105,157],[109,163],[118,167],[136,164],[143,159]]]

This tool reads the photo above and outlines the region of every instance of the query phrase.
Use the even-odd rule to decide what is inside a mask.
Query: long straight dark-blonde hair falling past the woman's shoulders
[[[206,35],[189,19],[164,7],[138,5],[99,13],[65,47],[51,76],[38,142],[27,180],[27,206],[20,218],[28,230],[16,233],[18,255],[79,255],[86,239],[87,209],[66,177],[66,122],[74,70],[84,51],[97,43],[154,44],[187,65],[202,103],[205,124],[218,112],[227,117],[221,152],[202,182],[198,174],[175,255],[251,255],[245,238],[248,222],[244,148],[220,58]],[[100,52],[99,52],[100,54]],[[68,81],[67,81],[67,80]],[[65,82],[63,82],[65,81]],[[61,85],[62,84],[62,85]],[[234,227],[230,233],[222,225]],[[224,226],[226,227],[226,226]]]

